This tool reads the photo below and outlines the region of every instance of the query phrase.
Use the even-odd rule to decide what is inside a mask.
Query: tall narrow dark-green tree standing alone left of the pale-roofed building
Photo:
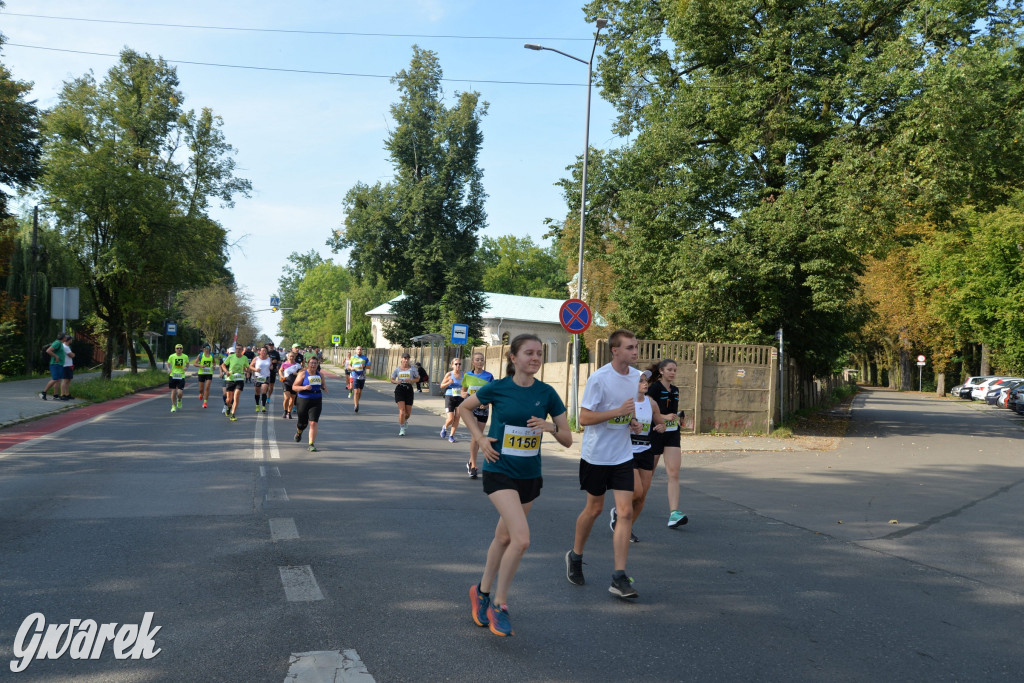
[[[481,268],[473,257],[485,225],[480,118],[487,105],[476,92],[461,92],[447,106],[441,68],[430,50],[413,47],[409,69],[392,83],[395,127],[385,140],[394,166],[388,183],[358,183],[345,196],[345,228],[328,244],[349,249],[359,280],[380,276],[407,296],[393,306],[385,329],[392,342],[424,332],[470,326],[479,336],[484,300]]]

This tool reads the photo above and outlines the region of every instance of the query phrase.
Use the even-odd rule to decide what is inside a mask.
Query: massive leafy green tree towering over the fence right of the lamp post
[[[613,246],[617,322],[642,334],[769,342],[781,327],[827,372],[864,321],[863,259],[894,226],[1020,182],[1016,0],[586,11],[612,19],[602,94],[630,135],[596,157],[587,229]],[[973,101],[975,83],[995,92]]]

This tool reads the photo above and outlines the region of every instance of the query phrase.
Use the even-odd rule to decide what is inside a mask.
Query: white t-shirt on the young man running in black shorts
[[[593,413],[620,408],[637,395],[639,383],[640,371],[632,366],[625,375],[615,372],[610,362],[601,366],[587,380],[580,405]],[[621,465],[633,460],[631,417],[615,418],[584,428],[581,458],[591,465]]]

